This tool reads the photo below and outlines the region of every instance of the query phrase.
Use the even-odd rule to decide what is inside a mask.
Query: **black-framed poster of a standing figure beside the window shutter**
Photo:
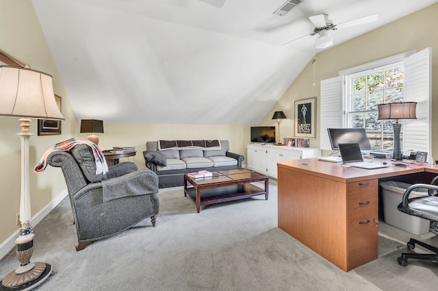
[[[315,138],[316,136],[316,97],[295,101],[295,136]]]

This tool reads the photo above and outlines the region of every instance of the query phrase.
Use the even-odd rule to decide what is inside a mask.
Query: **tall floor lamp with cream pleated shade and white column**
[[[0,116],[20,117],[21,132],[21,232],[16,243],[20,266],[1,280],[0,290],[31,290],[52,272],[49,264],[30,262],[34,251],[29,194],[30,118],[64,120],[53,94],[51,75],[30,68],[0,66]]]

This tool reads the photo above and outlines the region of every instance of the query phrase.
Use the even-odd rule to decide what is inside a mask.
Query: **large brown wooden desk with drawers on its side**
[[[438,165],[366,170],[314,158],[277,166],[279,227],[346,272],[377,258],[379,179],[438,173]]]

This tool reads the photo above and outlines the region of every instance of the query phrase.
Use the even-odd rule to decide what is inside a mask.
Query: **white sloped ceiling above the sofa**
[[[221,8],[220,2],[224,2]],[[438,0],[32,0],[78,119],[104,123],[255,124],[313,58],[309,16],[335,45]],[[214,5],[211,5],[214,4]]]

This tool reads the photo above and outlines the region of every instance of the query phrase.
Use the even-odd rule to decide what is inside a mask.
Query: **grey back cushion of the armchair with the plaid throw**
[[[82,170],[83,175],[91,183],[100,182],[106,179],[106,174],[96,175],[96,162],[91,147],[86,144],[77,144],[70,149],[70,154],[75,157],[75,160]]]

